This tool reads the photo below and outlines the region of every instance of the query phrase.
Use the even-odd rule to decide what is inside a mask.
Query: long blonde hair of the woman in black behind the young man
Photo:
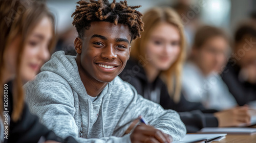
[[[165,82],[168,88],[169,96],[178,103],[181,92],[181,72],[182,65],[185,59],[185,36],[182,21],[180,16],[172,8],[152,8],[148,10],[143,18],[145,23],[144,32],[141,33],[141,38],[136,39],[132,43],[131,57],[139,60],[146,53],[146,43],[148,42],[151,32],[159,23],[166,22],[175,26],[180,34],[180,53],[177,60],[167,69],[161,71],[160,77]],[[143,62],[143,60],[141,60]]]

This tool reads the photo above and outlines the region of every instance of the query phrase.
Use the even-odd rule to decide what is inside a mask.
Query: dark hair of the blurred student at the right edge
[[[238,43],[245,38],[245,36],[256,37],[256,27],[253,23],[243,23],[238,27],[234,34],[234,42]]]

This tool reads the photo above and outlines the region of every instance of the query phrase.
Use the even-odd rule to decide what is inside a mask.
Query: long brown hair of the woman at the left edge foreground
[[[53,22],[54,29],[54,17],[48,11],[44,3],[28,0],[1,0],[0,1],[0,114],[3,113],[3,70],[6,61],[4,61],[4,55],[11,42],[17,37],[20,37],[20,43],[18,44],[17,51],[18,57],[16,59],[16,71],[15,80],[13,83],[13,112],[12,120],[17,121],[23,111],[24,106],[24,93],[22,88],[22,77],[20,75],[20,62],[25,47],[25,43],[28,40],[29,34],[31,34],[34,27],[37,25],[40,19],[44,16],[48,16]],[[52,31],[53,39],[50,42],[49,50],[52,51],[55,45],[55,31]]]

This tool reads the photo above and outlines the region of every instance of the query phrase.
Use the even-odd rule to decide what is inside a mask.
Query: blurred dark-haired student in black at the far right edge
[[[240,106],[256,101],[255,22],[244,23],[234,34],[233,52],[222,79]]]

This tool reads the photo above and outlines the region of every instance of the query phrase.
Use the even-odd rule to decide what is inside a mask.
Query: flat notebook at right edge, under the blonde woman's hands
[[[255,134],[256,128],[203,128],[200,133]]]

